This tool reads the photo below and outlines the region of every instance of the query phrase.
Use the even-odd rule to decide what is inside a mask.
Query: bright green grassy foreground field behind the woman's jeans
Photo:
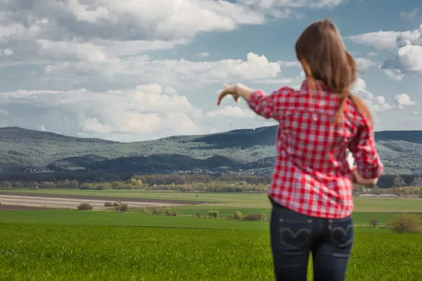
[[[6,280],[274,280],[265,230],[0,226]],[[421,255],[420,235],[357,233],[347,280],[420,280]]]

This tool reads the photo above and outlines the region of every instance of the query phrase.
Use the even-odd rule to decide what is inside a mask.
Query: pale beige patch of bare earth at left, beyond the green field
[[[34,208],[65,208],[75,209],[81,203],[89,203],[94,209],[108,209],[105,202],[124,202],[132,208],[163,207],[185,204],[203,204],[203,201],[159,200],[150,198],[127,198],[89,195],[53,195],[37,193],[0,192],[0,206],[20,206]],[[0,210],[2,210],[1,208]],[[9,207],[10,208],[10,207]]]

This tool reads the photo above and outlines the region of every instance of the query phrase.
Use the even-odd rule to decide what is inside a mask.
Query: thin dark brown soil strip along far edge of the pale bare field
[[[28,196],[28,197],[46,197],[46,198],[68,198],[68,199],[87,199],[87,200],[103,200],[105,202],[116,201],[132,201],[142,203],[163,203],[163,204],[180,204],[180,205],[197,205],[205,203],[218,203],[208,201],[191,201],[191,200],[172,200],[172,199],[151,199],[139,197],[109,197],[109,196],[96,196],[96,195],[68,195],[68,194],[44,194],[44,193],[31,193],[31,192],[0,192],[0,195],[14,195],[14,196]]]

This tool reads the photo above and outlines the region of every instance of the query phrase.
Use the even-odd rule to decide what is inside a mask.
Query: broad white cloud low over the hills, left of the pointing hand
[[[151,135],[201,133],[191,117],[200,110],[174,89],[146,84],[135,89],[93,92],[13,91],[0,93],[1,107],[9,114],[2,120],[13,126],[70,135],[122,139],[132,134],[137,140]],[[6,112],[5,109],[0,109]]]

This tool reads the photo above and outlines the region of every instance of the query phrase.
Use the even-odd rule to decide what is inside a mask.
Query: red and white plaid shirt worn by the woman
[[[316,84],[322,91],[309,92],[306,81],[299,91],[283,87],[269,96],[255,91],[248,105],[279,122],[272,200],[307,216],[345,218],[354,207],[347,148],[364,178],[381,176],[383,164],[373,128],[352,100],[346,100],[340,123],[334,125],[340,97],[321,81]]]

